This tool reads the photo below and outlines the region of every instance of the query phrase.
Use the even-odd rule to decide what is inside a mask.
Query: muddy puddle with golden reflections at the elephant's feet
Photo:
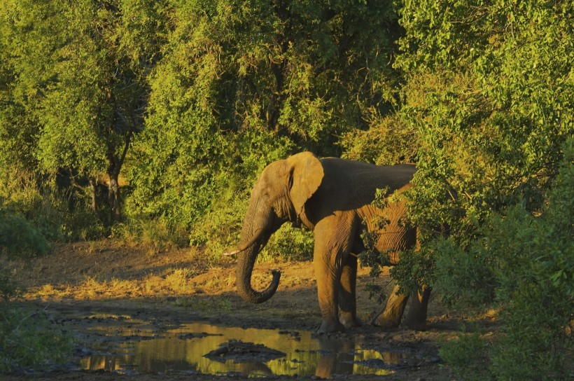
[[[405,354],[363,350],[354,340],[314,338],[310,332],[281,332],[255,328],[234,328],[210,324],[186,324],[164,333],[142,328],[121,332],[114,328],[99,334],[114,336],[92,349],[81,366],[89,370],[120,373],[207,373],[242,375],[331,375],[392,373]],[[117,340],[123,335],[125,340]],[[146,340],[142,340],[146,339]],[[205,354],[230,340],[253,342],[284,352],[279,359],[208,359]]]

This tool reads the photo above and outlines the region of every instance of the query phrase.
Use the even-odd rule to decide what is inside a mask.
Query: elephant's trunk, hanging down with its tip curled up
[[[250,208],[251,209],[251,208]],[[253,213],[249,212],[244,221],[244,227],[241,232],[241,251],[238,252],[237,268],[235,271],[237,292],[249,303],[263,303],[265,300],[271,298],[277,287],[279,286],[279,279],[281,272],[273,270],[273,278],[267,289],[263,291],[255,291],[251,286],[251,274],[255,260],[259,254],[260,249],[265,246],[269,238],[269,226],[272,225],[272,215],[265,213],[265,216],[259,214],[259,219],[252,219]],[[262,221],[258,224],[260,228],[254,228],[253,221]],[[245,243],[243,243],[245,242]]]

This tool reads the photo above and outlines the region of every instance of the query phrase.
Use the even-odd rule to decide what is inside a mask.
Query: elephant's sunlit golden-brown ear
[[[317,191],[323,181],[323,165],[311,152],[297,153],[287,159],[290,165],[290,196],[297,216],[305,202]]]

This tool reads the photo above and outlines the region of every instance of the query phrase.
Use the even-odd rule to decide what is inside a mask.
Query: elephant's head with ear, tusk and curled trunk
[[[286,160],[272,162],[263,170],[253,186],[245,215],[237,254],[237,291],[250,303],[262,303],[271,298],[281,273],[273,271],[272,281],[263,291],[251,286],[251,273],[259,251],[269,237],[287,222],[299,221],[304,205],[321,185],[323,167],[310,152],[297,153]]]

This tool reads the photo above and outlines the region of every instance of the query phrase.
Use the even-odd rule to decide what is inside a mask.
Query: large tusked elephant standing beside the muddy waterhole
[[[281,272],[272,271],[266,289],[251,286],[253,266],[269,237],[286,222],[306,226],[314,233],[313,266],[322,322],[318,333],[344,331],[360,325],[356,315],[357,254],[363,251],[363,224],[377,232],[375,247],[388,252],[390,265],[398,251],[416,245],[416,228],[402,223],[405,200],[387,198],[385,207],[372,205],[377,189],[402,193],[412,187],[414,165],[378,166],[340,158],[317,158],[302,152],[267,165],[256,181],[241,228],[237,255],[236,286],[241,298],[262,303],[271,298]],[[400,198],[399,198],[400,199]],[[384,219],[380,226],[376,220]],[[424,329],[430,289],[415,291],[405,324]],[[400,324],[408,294],[389,296],[384,310],[372,323],[386,328]]]

